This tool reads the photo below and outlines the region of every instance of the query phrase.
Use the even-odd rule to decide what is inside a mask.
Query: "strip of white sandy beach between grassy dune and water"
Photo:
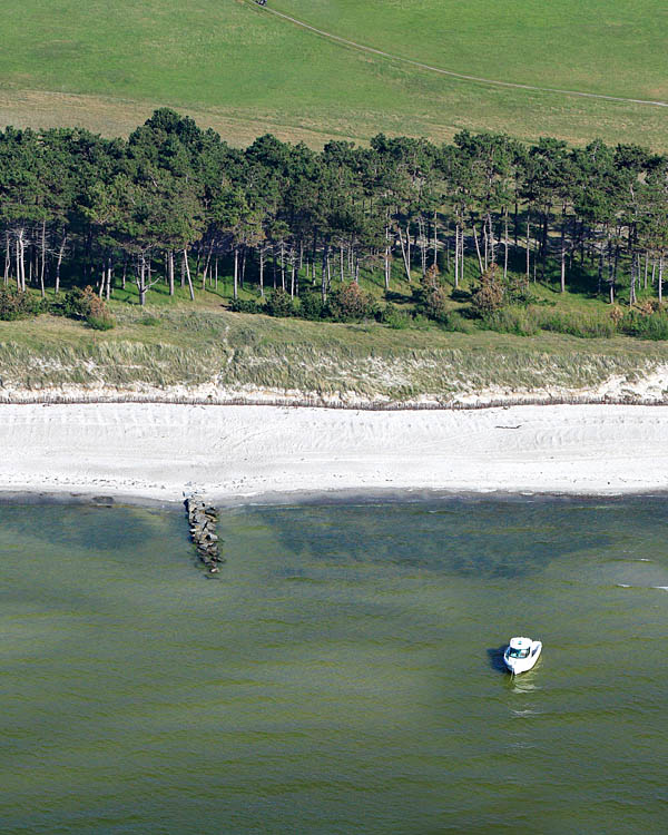
[[[0,490],[178,501],[333,490],[668,489],[668,406],[367,412],[1,405]]]

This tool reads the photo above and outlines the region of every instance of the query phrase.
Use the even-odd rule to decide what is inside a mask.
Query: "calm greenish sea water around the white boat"
[[[668,829],[668,502],[0,505],[0,829]],[[542,639],[512,680],[500,647]]]

